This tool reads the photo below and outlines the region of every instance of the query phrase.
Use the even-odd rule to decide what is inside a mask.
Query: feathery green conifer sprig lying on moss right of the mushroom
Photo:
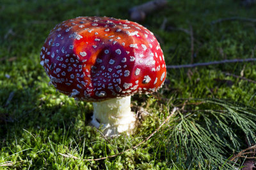
[[[169,147],[184,164],[210,164],[212,167],[234,169],[228,157],[241,150],[244,139],[256,140],[256,109],[221,99],[177,99],[195,101],[170,123]],[[188,106],[189,105],[189,106]],[[186,108],[189,107],[188,111]],[[189,116],[185,116],[189,115]],[[227,153],[230,153],[229,155]],[[240,157],[244,155],[240,154]]]

